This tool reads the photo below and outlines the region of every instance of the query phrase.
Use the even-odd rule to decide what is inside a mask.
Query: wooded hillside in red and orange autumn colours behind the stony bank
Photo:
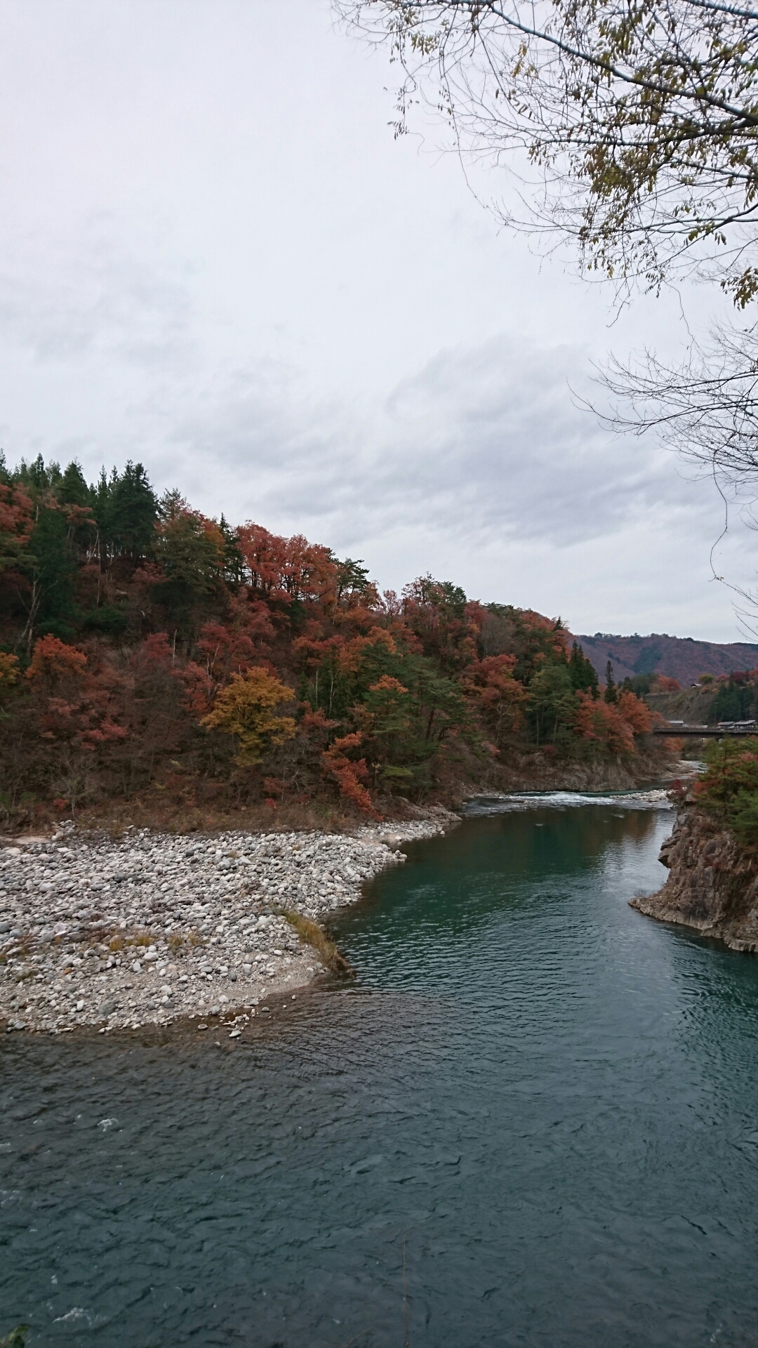
[[[514,754],[634,764],[650,712],[560,620],[158,500],[127,464],[0,465],[5,818],[150,797],[378,816]],[[463,786],[461,786],[463,783]],[[162,797],[163,793],[163,797]]]

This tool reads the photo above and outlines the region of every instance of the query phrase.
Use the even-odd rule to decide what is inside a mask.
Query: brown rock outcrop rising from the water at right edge
[[[707,814],[682,810],[660,860],[670,871],[662,890],[633,909],[718,937],[732,950],[758,950],[758,859]]]

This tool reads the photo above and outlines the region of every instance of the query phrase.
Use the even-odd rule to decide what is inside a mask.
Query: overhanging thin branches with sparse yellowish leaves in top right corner
[[[758,11],[718,0],[334,0],[459,148],[521,164],[523,224],[657,288],[758,293]]]

